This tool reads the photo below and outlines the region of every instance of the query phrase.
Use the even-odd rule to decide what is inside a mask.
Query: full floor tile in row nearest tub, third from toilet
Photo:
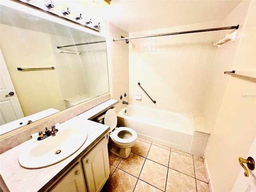
[[[195,177],[193,158],[171,151],[169,167]]]

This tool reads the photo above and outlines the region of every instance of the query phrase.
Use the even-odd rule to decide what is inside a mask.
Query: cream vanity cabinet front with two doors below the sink
[[[72,168],[64,172],[48,192],[99,192],[108,180],[110,170],[108,161],[107,135],[79,158]]]

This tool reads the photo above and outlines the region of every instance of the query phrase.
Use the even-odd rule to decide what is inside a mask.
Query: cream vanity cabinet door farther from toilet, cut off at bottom
[[[87,192],[81,164],[67,172],[51,192]]]

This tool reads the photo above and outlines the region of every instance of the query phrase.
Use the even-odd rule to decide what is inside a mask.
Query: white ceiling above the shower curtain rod
[[[126,32],[223,20],[242,0],[112,0],[94,10]]]

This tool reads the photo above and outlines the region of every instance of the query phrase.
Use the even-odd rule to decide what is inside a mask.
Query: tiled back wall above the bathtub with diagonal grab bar
[[[130,37],[218,28],[223,21],[130,33]],[[202,112],[220,31],[140,38],[129,43],[130,103],[191,114]],[[138,82],[156,100],[154,104]],[[142,100],[135,100],[142,93]]]

